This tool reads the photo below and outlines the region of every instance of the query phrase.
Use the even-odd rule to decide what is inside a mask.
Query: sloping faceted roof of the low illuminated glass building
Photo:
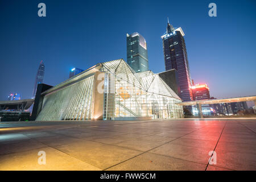
[[[108,71],[113,73],[116,78],[126,80],[127,82],[134,84],[146,92],[162,94],[164,96],[174,97],[180,100],[180,97],[177,96],[177,94],[162,80],[162,78],[159,77],[158,74],[155,74],[152,71],[135,73],[134,70],[123,59],[96,64],[80,74],[69,78],[61,84],[53,86],[51,89],[46,90],[42,94],[48,94],[57,89],[61,89],[64,86],[72,85],[77,81],[93,75],[96,71]]]

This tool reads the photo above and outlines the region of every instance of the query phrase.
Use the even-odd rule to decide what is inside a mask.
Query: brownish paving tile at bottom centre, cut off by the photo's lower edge
[[[177,170],[199,170],[204,171],[207,165],[192,163],[186,160],[169,158],[167,156],[145,153],[133,159],[127,160],[117,166],[108,168],[110,171],[177,171]]]

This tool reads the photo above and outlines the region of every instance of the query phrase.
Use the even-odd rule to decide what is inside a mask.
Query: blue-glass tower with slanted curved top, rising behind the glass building
[[[147,43],[143,36],[137,32],[126,34],[127,64],[135,72],[148,71]]]

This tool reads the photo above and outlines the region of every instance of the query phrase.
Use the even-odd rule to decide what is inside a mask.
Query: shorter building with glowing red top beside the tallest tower
[[[207,84],[196,84],[191,86],[191,89],[194,101],[210,99],[210,91]]]

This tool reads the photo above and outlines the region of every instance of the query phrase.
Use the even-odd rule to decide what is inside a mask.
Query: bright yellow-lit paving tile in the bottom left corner
[[[46,152],[46,165],[39,164],[38,152]],[[101,170],[91,164],[73,158],[50,147],[0,155],[0,171],[2,170]]]

